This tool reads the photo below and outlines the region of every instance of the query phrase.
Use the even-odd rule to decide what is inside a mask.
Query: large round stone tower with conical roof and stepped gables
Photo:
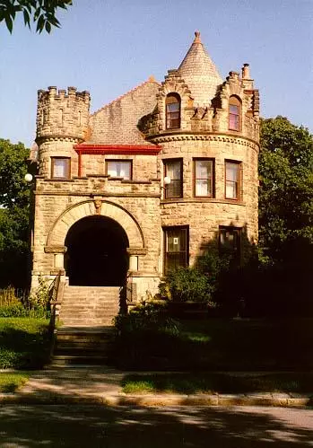
[[[248,64],[222,81],[196,31],[177,70],[161,84],[145,120],[161,145],[161,224],[167,273],[207,250],[243,260],[257,240],[258,91]]]

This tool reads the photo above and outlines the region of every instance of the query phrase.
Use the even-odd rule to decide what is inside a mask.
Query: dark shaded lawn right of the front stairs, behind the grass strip
[[[312,319],[180,321],[178,335],[145,330],[121,342],[117,365],[125,369],[313,370]]]

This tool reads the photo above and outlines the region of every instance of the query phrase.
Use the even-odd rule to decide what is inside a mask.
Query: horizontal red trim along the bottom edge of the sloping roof
[[[157,155],[161,151],[159,145],[74,145],[77,154],[147,154]]]

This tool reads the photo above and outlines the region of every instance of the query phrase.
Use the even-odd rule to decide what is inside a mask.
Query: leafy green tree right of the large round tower
[[[260,244],[282,259],[284,244],[313,244],[313,136],[288,119],[264,119],[259,156]]]

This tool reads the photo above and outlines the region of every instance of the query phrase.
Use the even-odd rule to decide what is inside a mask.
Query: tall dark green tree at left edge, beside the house
[[[30,186],[24,180],[30,151],[0,139],[0,287],[27,284]]]

